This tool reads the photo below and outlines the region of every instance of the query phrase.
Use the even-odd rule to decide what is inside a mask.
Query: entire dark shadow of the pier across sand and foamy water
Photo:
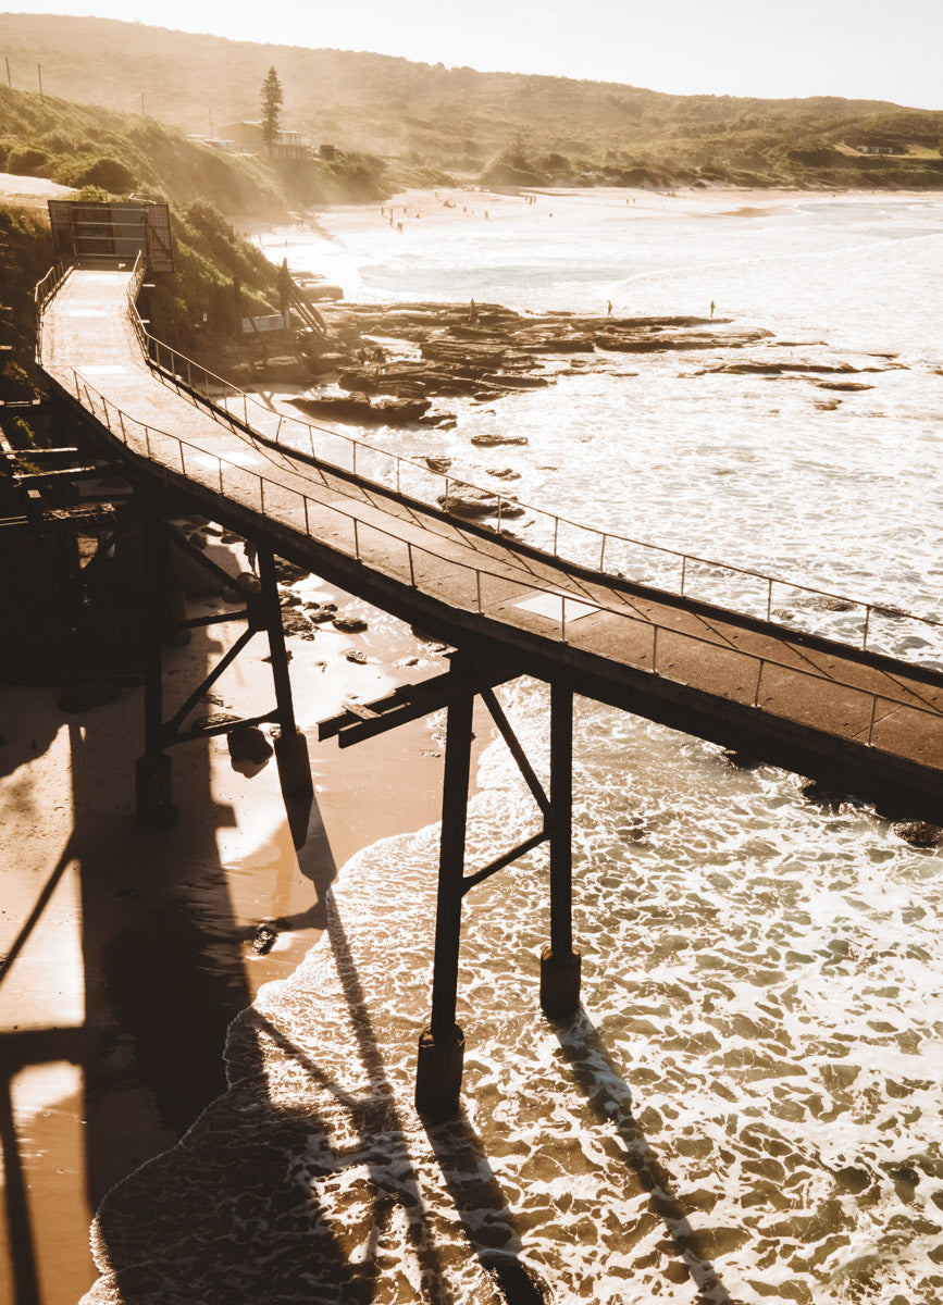
[[[106,1295],[135,1305],[174,1293],[238,1305],[300,1291],[307,1300],[368,1305],[401,1272],[392,1241],[411,1248],[417,1296],[461,1305],[443,1259],[462,1254],[457,1216],[464,1254],[470,1249],[495,1301],[552,1298],[525,1262],[519,1216],[469,1120],[423,1129],[394,1095],[329,891],[336,868],[316,805],[300,864],[320,900],[278,925],[325,929],[355,1039],[355,1088],[261,1010],[246,1009],[244,940],[216,842],[231,813],[209,799],[205,750],[188,753],[185,782],[176,786],[180,823],[148,834],[133,826],[125,792],[103,799],[102,750],[114,743],[104,731],[99,737],[94,716],[72,727],[71,744],[74,829],[0,971],[3,981],[67,867],[77,865],[85,1022],[0,1035],[0,1146],[17,1305],[52,1297],[43,1291],[48,1268],[42,1229],[31,1223],[37,1206],[27,1195],[10,1083],[24,1066],[52,1060],[84,1073],[88,1199],[94,1206],[107,1193],[97,1233],[112,1266]],[[734,1305],[633,1118],[628,1084],[597,1030],[581,1013],[558,1026],[558,1036],[573,1082],[620,1137],[626,1165],[699,1301]],[[269,1082],[273,1047],[300,1075],[290,1096]],[[187,1129],[185,1142],[172,1146]],[[427,1206],[430,1164],[453,1210]],[[78,1291],[57,1298],[74,1301]]]

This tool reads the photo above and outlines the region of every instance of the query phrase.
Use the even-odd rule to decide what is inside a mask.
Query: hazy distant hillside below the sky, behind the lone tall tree
[[[943,185],[943,112],[870,100],[663,95],[381,55],[230,42],[99,18],[0,14],[14,86],[148,112],[187,132],[259,116],[274,64],[283,123],[315,144],[509,184]],[[862,154],[886,145],[893,157]],[[393,180],[400,180],[394,172]]]

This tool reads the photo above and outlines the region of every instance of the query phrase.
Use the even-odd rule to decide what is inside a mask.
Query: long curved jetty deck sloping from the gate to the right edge
[[[286,422],[222,384],[214,393],[136,320],[140,277],[74,268],[42,312],[44,371],[135,476],[453,643],[466,662],[566,683],[943,822],[940,671],[613,574],[598,531],[583,544],[596,536],[602,565],[583,545],[575,561],[530,547],[500,508],[490,527],[457,519],[436,504],[455,480]],[[503,506],[517,510],[508,497]]]

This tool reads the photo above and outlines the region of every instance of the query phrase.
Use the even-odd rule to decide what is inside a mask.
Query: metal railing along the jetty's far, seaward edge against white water
[[[862,651],[875,651],[875,626],[880,622],[916,622],[936,632],[942,646],[934,655],[936,659],[943,655],[943,620],[918,616],[882,602],[849,598],[832,590],[665,548],[626,535],[615,535],[596,526],[585,526],[558,513],[522,504],[498,491],[482,489],[472,482],[435,471],[411,458],[404,458],[344,432],[274,412],[223,377],[150,335],[136,304],[142,277],[144,270],[141,269],[138,275],[136,265],[128,284],[128,312],[148,361],[165,381],[174,385],[178,393],[184,394],[191,402],[199,403],[197,395],[202,395],[208,401],[205,411],[216,420],[223,420],[232,427],[239,422],[246,433],[260,436],[289,450],[303,450],[310,453],[312,459],[355,475],[367,484],[393,488],[400,495],[408,493],[423,502],[447,506],[456,491],[472,489],[486,493],[494,501],[491,514],[494,525],[486,519],[478,521],[479,526],[492,530],[499,536],[513,535],[513,526],[508,527],[507,522],[513,522],[524,514],[528,517],[526,543],[530,547],[547,557],[573,562],[601,576],[644,583],[682,598],[720,603],[727,611],[754,619],[771,622],[775,619],[776,624],[785,629],[820,634]],[[453,519],[460,518],[453,517]],[[731,581],[739,585],[741,590],[747,587],[750,592],[731,591]],[[717,598],[720,589],[725,589],[721,599]],[[808,600],[818,604],[818,619],[810,619],[803,624],[797,613],[782,611],[781,604],[789,602],[790,596],[799,607]],[[823,609],[831,613],[828,621],[822,619]],[[900,643],[900,639],[896,642]],[[905,656],[908,651],[908,649],[895,649],[893,655]]]

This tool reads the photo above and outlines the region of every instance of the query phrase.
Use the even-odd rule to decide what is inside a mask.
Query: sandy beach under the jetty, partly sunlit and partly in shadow
[[[441,652],[313,577],[294,587],[370,621],[364,634],[287,639],[316,788],[298,852],[274,758],[236,767],[225,737],[178,746],[179,821],[148,830],[133,820],[142,689],[81,715],[59,709],[56,686],[0,690],[3,1305],[72,1305],[91,1285],[98,1202],[225,1090],[226,1028],[320,937],[319,886],[359,848],[439,818],[439,720],[344,752],[315,726],[347,697],[445,669]],[[191,615],[213,606],[193,600]],[[238,633],[214,626],[166,650],[166,713]],[[206,710],[268,710],[266,654],[256,637]],[[278,934],[268,955],[252,946],[260,923]]]

